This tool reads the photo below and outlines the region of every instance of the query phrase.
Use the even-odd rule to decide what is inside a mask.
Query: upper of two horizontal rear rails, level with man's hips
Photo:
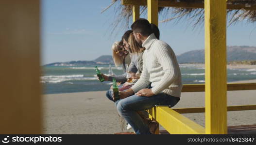
[[[230,83],[227,84],[227,90],[256,90],[256,83]],[[205,84],[183,85],[182,92],[204,92]]]

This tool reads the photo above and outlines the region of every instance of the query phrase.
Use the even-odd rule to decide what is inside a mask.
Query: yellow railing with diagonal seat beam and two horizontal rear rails
[[[256,83],[227,84],[227,90],[256,90]],[[182,92],[204,92],[205,85],[183,85]],[[256,110],[256,105],[227,106],[227,111]],[[171,109],[156,106],[148,110],[150,118],[157,121],[171,134],[205,134],[205,128],[181,115],[186,113],[205,113],[204,107]],[[159,129],[158,129],[159,130]],[[156,131],[158,134],[159,131]]]

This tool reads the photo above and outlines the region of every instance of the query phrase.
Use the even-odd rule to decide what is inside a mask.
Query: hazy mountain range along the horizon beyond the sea
[[[205,50],[193,50],[177,55],[179,63],[205,63]],[[256,47],[253,46],[227,46],[227,61],[256,60]],[[112,56],[104,55],[92,61],[54,62],[45,66],[75,66],[114,64]]]

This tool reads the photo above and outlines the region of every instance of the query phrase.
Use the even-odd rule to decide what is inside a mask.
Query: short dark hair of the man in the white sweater
[[[147,19],[139,18],[131,26],[132,30],[142,36],[149,36],[152,33],[151,25]]]

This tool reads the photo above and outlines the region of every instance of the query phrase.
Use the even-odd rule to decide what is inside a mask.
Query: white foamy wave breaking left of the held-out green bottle
[[[84,77],[83,74],[76,74],[76,75],[47,75],[41,76],[41,83],[61,83],[67,82],[68,84],[73,84],[70,81],[86,81],[86,80],[98,80],[97,77]]]

